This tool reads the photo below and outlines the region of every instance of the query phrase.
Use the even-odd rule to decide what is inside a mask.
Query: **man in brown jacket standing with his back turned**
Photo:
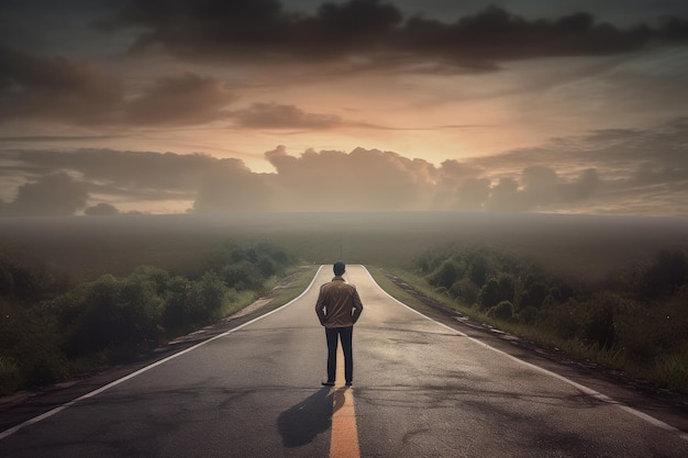
[[[325,387],[334,386],[339,338],[344,351],[344,378],[346,386],[351,387],[354,377],[352,350],[354,324],[363,312],[363,303],[356,287],[345,282],[342,278],[346,270],[344,262],[334,262],[332,270],[334,278],[320,287],[320,294],[318,302],[315,302],[315,313],[320,324],[325,327],[328,338],[328,380],[323,381],[322,384]]]

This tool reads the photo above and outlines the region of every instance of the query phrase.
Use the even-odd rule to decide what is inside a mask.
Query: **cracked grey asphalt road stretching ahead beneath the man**
[[[398,303],[359,266],[354,387],[323,388],[313,288],[0,433],[10,457],[688,457],[688,436]]]

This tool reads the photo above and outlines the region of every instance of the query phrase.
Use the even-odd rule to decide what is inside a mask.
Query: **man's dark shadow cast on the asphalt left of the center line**
[[[310,444],[315,436],[331,428],[334,413],[329,388],[322,388],[277,417],[277,427],[285,447]]]

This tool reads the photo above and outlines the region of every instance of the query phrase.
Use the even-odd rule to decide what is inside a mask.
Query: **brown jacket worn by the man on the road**
[[[342,277],[334,277],[331,282],[320,287],[315,313],[320,324],[325,327],[353,326],[363,312],[358,291]]]

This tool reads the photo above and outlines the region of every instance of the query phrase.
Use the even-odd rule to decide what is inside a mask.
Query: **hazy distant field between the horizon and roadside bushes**
[[[661,249],[688,246],[688,219],[489,213],[244,213],[0,219],[0,253],[73,281],[148,264],[201,268],[217,244],[271,242],[304,261],[404,265],[429,248],[487,245],[596,280]]]

